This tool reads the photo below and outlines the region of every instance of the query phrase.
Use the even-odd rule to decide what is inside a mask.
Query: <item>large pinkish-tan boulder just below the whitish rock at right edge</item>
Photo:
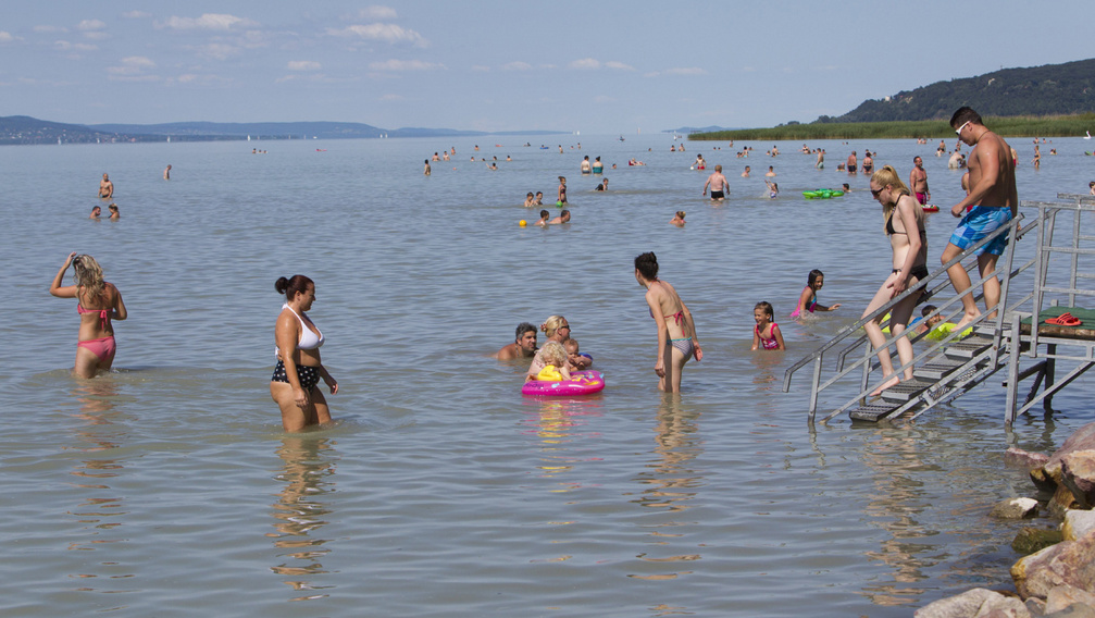
[[[1021,558],[1012,565],[1012,579],[1023,598],[1046,598],[1061,585],[1095,592],[1095,534]]]

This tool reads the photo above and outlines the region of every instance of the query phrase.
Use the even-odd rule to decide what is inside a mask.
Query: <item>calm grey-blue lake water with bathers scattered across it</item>
[[[828,150],[818,171],[797,142],[776,158],[751,142],[741,160],[725,142],[615,137],[0,149],[0,335],[27,352],[0,370],[3,615],[908,616],[1010,586],[1018,525],[987,513],[1033,487],[1001,454],[1052,450],[1090,421],[1090,379],[1013,432],[1000,380],[907,426],[811,430],[808,379],[781,390],[890,268],[868,179],[835,163],[867,148],[908,178],[922,154],[945,210],[960,174],[935,142],[812,142]],[[1012,141],[1023,199],[1095,178],[1088,141],[1044,146],[1040,171],[1030,140]],[[696,153],[726,167],[726,203],[701,196]],[[606,161],[609,192],[578,173],[585,154]],[[104,171],[116,222],[87,218]],[[525,194],[554,202],[561,174],[573,222],[518,227],[537,219]],[[802,198],[843,182],[842,198]],[[684,229],[667,225],[678,209]],[[930,264],[954,225],[930,217]],[[70,251],[100,261],[130,316],[116,370],[90,381],[69,376],[76,302],[47,293]],[[653,373],[644,251],[705,351],[676,397]],[[785,316],[815,267],[821,302],[843,307],[799,324]],[[295,273],[315,281],[342,391],[336,427],[286,435],[267,382],[274,281]],[[785,354],[749,350],[760,300]],[[525,367],[489,357],[553,313],[604,371],[602,394],[526,399]]]

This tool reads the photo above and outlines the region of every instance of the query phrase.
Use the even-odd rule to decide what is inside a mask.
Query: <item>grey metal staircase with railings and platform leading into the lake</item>
[[[821,422],[828,422],[844,412],[848,412],[854,421],[878,422],[898,416],[915,419],[920,414],[947,403],[983,384],[1000,369],[1007,368],[1005,423],[1010,425],[1016,413],[1026,412],[1039,402],[1042,402],[1046,410],[1049,411],[1053,393],[1060,391],[1087,369],[1095,367],[1095,312],[1092,314],[1092,325],[1086,331],[1065,330],[1062,333],[1060,332],[1062,329],[1047,330],[1044,323],[1046,311],[1052,313],[1051,309],[1058,305],[1059,300],[1064,300],[1068,306],[1059,308],[1057,313],[1069,308],[1087,311],[1075,308],[1076,297],[1095,297],[1095,289],[1081,287],[1080,284],[1081,279],[1095,279],[1095,274],[1079,272],[1080,256],[1095,256],[1095,248],[1081,247],[1082,241],[1095,241],[1095,236],[1081,233],[1083,230],[1081,216],[1090,214],[1095,218],[1095,196],[1058,194],[1057,198],[1059,199],[1057,203],[1022,203],[1021,207],[1023,208],[1037,208],[1038,217],[1036,220],[1023,226],[1024,216],[1019,214],[1007,227],[996,230],[944,264],[923,282],[919,282],[914,287],[894,298],[877,311],[841,329],[833,339],[787,369],[783,380],[784,392],[791,389],[791,379],[797,371],[806,366],[811,366],[814,369],[809,401],[811,423],[816,417],[821,393],[826,391],[834,393],[838,402],[842,401],[842,403],[830,408]],[[1053,231],[1058,215],[1061,213],[1071,215],[1071,244],[1054,245]],[[1064,217],[1064,219],[1069,219],[1069,217]],[[1014,249],[1017,242],[1031,229],[1037,230],[1038,239],[1035,256],[1015,267]],[[900,336],[910,336],[914,344],[920,342],[921,345],[926,344],[926,346],[915,353],[909,363],[913,367],[912,380],[904,380],[881,391],[880,397],[868,398],[868,393],[884,384],[886,377],[877,374],[879,365],[873,360],[876,351],[872,348],[866,334],[863,333],[863,325],[878,316],[886,314],[891,307],[909,295],[923,294],[924,296],[921,298],[921,302],[923,302],[929,298],[934,298],[944,289],[949,289],[950,282],[946,277],[947,268],[973,255],[978,249],[1001,234],[1008,234],[1011,240],[1004,255],[998,261],[996,270],[980,281],[973,281],[970,290],[967,291],[967,294],[975,294],[975,301],[981,301],[984,282],[999,275],[1001,299],[995,314],[982,313],[970,323],[970,329],[966,333],[968,336],[963,336],[964,333],[957,331],[952,331],[938,342],[929,342],[924,334],[909,334],[909,331],[901,333],[901,335],[890,336],[886,340],[885,345],[891,350]],[[1053,253],[1069,256],[1070,272],[1065,276],[1059,277],[1067,278],[1067,284],[1058,284],[1049,276],[1049,265]],[[967,271],[975,273],[971,278],[977,276],[976,268],[976,263],[967,267]],[[1017,298],[1014,294],[1008,295],[1012,282],[1024,273],[1027,276],[1033,275],[1031,291]],[[1050,294],[1065,296],[1047,299],[1047,295]],[[961,313],[961,301],[957,295],[943,302],[938,300],[935,302],[938,308],[925,316],[924,319],[940,314],[950,321]],[[1047,304],[1050,309],[1047,309]],[[1095,300],[1093,300],[1093,307],[1095,307]],[[883,325],[887,325],[887,322],[884,321]],[[1045,351],[1042,351],[1042,346],[1045,346]],[[914,347],[914,350],[917,348]],[[826,360],[831,359],[832,355],[837,356],[837,363],[835,367],[830,368],[827,367]],[[891,352],[891,357],[894,355],[895,353]],[[854,362],[850,360],[854,356],[857,358]],[[1024,358],[1034,359],[1034,364],[1025,369],[1022,368],[1021,362]],[[1061,380],[1054,382],[1054,369],[1059,360],[1075,362],[1076,366]],[[895,371],[901,374],[907,366],[895,366]],[[1035,382],[1026,400],[1019,404],[1019,382],[1031,376],[1035,376]],[[856,377],[858,377],[857,385],[855,384]],[[1045,385],[1044,391],[1041,394],[1037,394],[1042,385]]]

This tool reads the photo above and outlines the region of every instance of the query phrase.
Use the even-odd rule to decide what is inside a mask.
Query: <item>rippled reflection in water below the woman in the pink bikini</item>
[[[77,560],[81,571],[70,573],[69,577],[85,580],[76,588],[78,592],[134,592],[120,590],[122,582],[113,581],[135,576],[132,565],[116,560],[123,553],[116,543],[129,541],[122,530],[125,516],[129,514],[125,497],[110,484],[125,468],[125,460],[111,456],[111,451],[123,445],[127,433],[126,426],[120,424],[122,412],[114,404],[117,394],[117,385],[110,376],[80,380],[71,391],[80,409],[71,414],[74,442],[65,449],[88,456],[80,457],[69,472],[77,478],[71,485],[80,490],[83,501],[67,512],[80,524],[79,539],[69,541],[67,548],[100,552],[93,560]]]

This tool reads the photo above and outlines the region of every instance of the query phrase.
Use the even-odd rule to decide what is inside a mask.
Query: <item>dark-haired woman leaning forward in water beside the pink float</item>
[[[658,362],[654,365],[658,390],[678,392],[684,363],[693,354],[698,363],[703,360],[692,313],[673,286],[658,278],[658,258],[654,252],[635,258],[635,279],[646,288],[646,304],[658,324]]]

